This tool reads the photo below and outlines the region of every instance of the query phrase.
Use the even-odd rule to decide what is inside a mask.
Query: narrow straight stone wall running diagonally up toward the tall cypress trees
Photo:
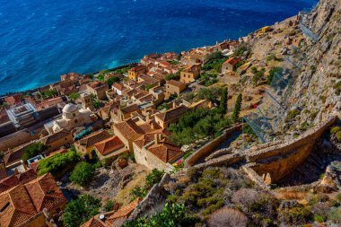
[[[234,127],[230,127],[223,131],[223,135],[220,135],[216,137],[214,140],[209,142],[208,144],[205,144],[201,148],[199,148],[195,153],[192,153],[188,159],[185,161],[185,167],[191,167],[196,164],[196,162],[202,158],[204,158],[208,153],[212,152],[215,147],[217,147],[219,144],[222,144],[223,141],[225,141],[229,135],[231,135],[233,132],[240,129],[242,125],[237,125]]]

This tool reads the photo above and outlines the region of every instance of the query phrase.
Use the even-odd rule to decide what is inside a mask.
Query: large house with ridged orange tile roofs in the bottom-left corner
[[[0,225],[4,227],[45,227],[46,214],[59,214],[67,202],[50,173],[4,191],[0,200]]]

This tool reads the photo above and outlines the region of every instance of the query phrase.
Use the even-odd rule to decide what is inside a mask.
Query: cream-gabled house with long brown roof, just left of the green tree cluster
[[[180,105],[177,108],[169,109],[165,112],[156,114],[155,122],[162,128],[169,127],[171,123],[176,122],[188,110],[188,107]]]

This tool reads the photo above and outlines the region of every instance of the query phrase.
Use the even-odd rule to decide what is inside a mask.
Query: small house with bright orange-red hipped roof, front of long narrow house
[[[100,160],[113,159],[122,153],[128,152],[125,144],[123,144],[118,136],[110,137],[95,144],[95,151]]]

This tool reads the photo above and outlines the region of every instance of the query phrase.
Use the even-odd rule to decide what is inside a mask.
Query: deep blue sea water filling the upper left
[[[0,94],[237,39],[317,0],[0,0]]]

